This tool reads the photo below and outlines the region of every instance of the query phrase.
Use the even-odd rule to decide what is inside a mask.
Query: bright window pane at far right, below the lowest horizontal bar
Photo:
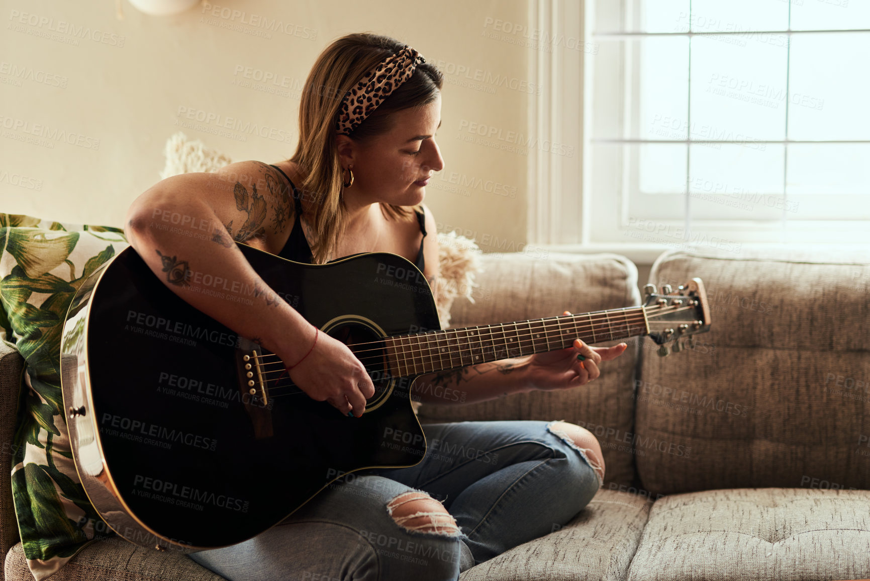
[[[866,143],[788,145],[786,193],[867,194],[867,210],[870,207],[870,164],[867,159],[870,159],[870,144]]]

